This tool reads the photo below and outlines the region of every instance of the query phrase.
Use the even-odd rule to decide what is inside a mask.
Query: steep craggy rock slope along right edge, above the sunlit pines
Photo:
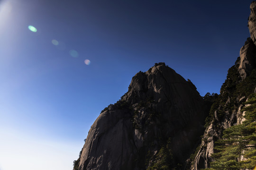
[[[210,155],[215,152],[215,142],[222,136],[224,129],[241,124],[247,97],[256,93],[256,1],[250,5],[251,14],[248,27],[251,38],[247,38],[240,50],[234,66],[229,68],[227,79],[221,86],[219,98],[212,105],[210,116],[206,119],[206,130],[198,153],[193,161],[192,170],[210,167]]]

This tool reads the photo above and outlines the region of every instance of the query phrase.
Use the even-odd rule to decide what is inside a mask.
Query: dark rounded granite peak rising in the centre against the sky
[[[184,167],[204,130],[203,104],[192,82],[165,63],[137,73],[91,126],[78,169],[146,170],[161,154],[170,156],[168,168]]]

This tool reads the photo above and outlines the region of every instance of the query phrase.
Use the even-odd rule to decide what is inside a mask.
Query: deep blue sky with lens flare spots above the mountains
[[[157,62],[219,93],[250,2],[0,0],[0,170],[72,170],[101,110]]]

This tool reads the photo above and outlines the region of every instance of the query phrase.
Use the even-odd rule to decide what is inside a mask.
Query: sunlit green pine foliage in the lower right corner
[[[216,153],[211,155],[207,170],[240,170],[253,169],[256,165],[256,94],[251,94],[245,103],[250,104],[242,111],[246,120],[223,131],[222,139],[216,144]],[[241,156],[243,161],[240,161]]]

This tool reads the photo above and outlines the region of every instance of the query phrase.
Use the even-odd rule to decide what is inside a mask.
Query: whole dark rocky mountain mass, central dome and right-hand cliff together
[[[256,148],[255,139],[241,136],[256,136],[254,130],[239,131],[243,134],[239,135],[239,128],[231,128],[242,124],[243,129],[256,127],[255,115],[247,116],[245,111],[249,106],[246,101],[256,93],[255,1],[250,8],[251,37],[241,48],[235,65],[229,68],[219,95],[201,97],[190,80],[165,63],[155,63],[148,71],[138,72],[128,92],[101,111],[73,170],[253,169],[256,159],[250,160],[250,154],[253,157],[256,149],[246,152]],[[227,129],[237,130],[239,140],[234,142],[232,138],[233,143],[225,143],[231,131]],[[215,154],[221,150],[221,142],[222,150],[226,148],[225,152],[231,155],[230,159],[223,159],[232,164],[221,162],[221,154]],[[238,148],[240,143],[244,145]],[[233,154],[227,146],[240,150]]]

